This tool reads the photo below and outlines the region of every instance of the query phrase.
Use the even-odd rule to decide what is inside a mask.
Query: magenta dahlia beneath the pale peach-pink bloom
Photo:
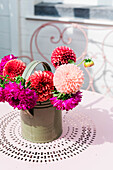
[[[72,96],[67,100],[58,99],[57,97],[50,98],[50,102],[53,105],[53,107],[56,107],[57,110],[66,110],[69,111],[72,110],[74,107],[78,105],[79,102],[81,102],[81,92],[78,91],[75,94],[72,94]]]

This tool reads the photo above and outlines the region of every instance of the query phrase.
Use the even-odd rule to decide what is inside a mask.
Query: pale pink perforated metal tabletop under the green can
[[[0,103],[0,126],[1,170],[113,170],[113,99],[102,94],[83,91],[79,106],[63,112],[62,136],[50,143],[22,139],[19,112],[7,103]]]

